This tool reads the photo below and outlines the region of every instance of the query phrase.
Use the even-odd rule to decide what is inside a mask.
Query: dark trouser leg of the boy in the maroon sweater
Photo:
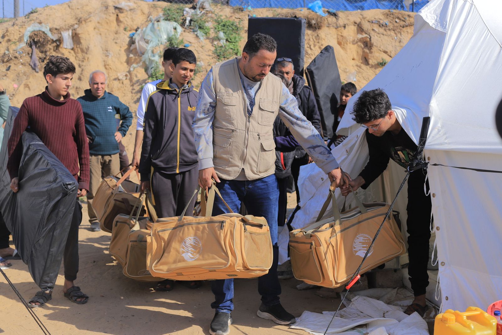
[[[77,279],[78,272],[78,226],[82,222],[82,205],[75,203],[75,210],[71,219],[70,231],[64,247],[64,278],[69,281]]]

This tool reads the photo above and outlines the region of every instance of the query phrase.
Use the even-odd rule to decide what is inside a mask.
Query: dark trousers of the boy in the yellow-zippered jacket
[[[154,168],[151,179],[155,211],[158,217],[179,216],[197,189],[198,164],[179,174],[166,174]],[[193,215],[196,197],[190,201],[186,215]]]

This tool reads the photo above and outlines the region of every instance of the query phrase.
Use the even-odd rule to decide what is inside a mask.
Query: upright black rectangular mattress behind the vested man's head
[[[272,36],[277,42],[277,57],[291,58],[295,73],[303,74],[305,58],[305,27],[302,18],[254,18],[247,22],[247,38],[262,33]]]

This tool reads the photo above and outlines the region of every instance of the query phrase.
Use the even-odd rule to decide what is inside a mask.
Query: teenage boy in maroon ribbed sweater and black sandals
[[[85,134],[82,107],[70,99],[68,90],[75,73],[75,65],[66,57],[50,56],[44,66],[47,81],[45,92],[27,98],[14,119],[9,138],[7,170],[11,176],[11,189],[18,192],[23,181],[18,178],[22,155],[21,135],[30,127],[49,150],[66,166],[78,182],[75,210],[64,250],[64,296],[77,304],[84,304],[89,297],[73,285],[78,272],[78,226],[82,220],[82,206],[78,197],[89,190],[89,146]],[[80,173],[79,173],[80,172]],[[40,307],[52,299],[54,287],[41,287],[41,291],[29,301],[30,307]]]

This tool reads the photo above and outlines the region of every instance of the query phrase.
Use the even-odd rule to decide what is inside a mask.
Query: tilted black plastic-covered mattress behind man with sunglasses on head
[[[333,137],[334,115],[342,87],[333,47],[328,45],[322,49],[307,66],[306,72],[321,116],[322,135],[330,139]]]

